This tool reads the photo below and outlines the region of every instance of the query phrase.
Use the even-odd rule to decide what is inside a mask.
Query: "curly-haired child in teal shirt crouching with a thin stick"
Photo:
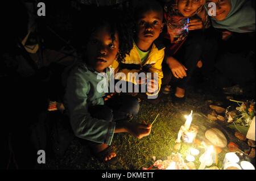
[[[82,49],[84,62],[80,62],[68,78],[65,107],[75,135],[88,140],[98,158],[110,162],[116,158],[115,151],[109,146],[114,133],[128,132],[142,138],[150,134],[151,125],[115,122],[129,120],[136,115],[139,111],[137,100],[129,96],[115,96],[104,101],[105,92],[97,89],[98,83],[109,77],[110,65],[115,58],[122,60],[132,47],[126,32],[129,28],[125,27],[120,12],[104,9],[100,14],[102,16],[97,15],[100,18],[86,21],[90,28],[81,28],[89,38],[85,38],[87,44]],[[84,41],[82,37],[80,39]]]

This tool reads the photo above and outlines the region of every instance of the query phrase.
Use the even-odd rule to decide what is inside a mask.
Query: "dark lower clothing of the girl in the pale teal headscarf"
[[[221,32],[216,31],[216,35]],[[233,33],[223,41],[219,35],[214,84],[217,87],[240,85],[247,96],[255,97],[255,32]]]

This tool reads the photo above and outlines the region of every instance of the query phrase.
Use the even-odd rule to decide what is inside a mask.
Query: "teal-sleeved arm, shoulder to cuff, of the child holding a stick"
[[[110,145],[115,123],[90,116],[87,104],[89,91],[90,83],[83,76],[81,69],[68,78],[66,100],[73,132],[79,138]],[[103,103],[103,99],[98,101]]]

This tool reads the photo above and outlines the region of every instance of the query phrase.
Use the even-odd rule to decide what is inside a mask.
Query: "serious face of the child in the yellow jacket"
[[[137,39],[153,43],[163,30],[163,12],[146,11],[139,16],[136,29]]]

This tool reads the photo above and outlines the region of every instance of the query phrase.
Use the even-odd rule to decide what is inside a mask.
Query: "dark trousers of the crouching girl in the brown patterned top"
[[[201,73],[204,80],[208,80],[212,77],[214,72],[214,64],[217,54],[217,41],[216,37],[212,35],[212,28],[205,31],[191,31],[185,43],[177,51],[176,54],[170,55],[176,58],[181,64],[188,70],[186,71],[187,77],[183,79],[177,79],[172,75],[172,72],[166,64],[166,58],[163,61],[163,86],[168,85],[170,79],[176,82],[176,86],[182,89],[186,89],[188,82],[191,80],[193,73],[197,69],[197,62],[203,61],[203,68]]]

